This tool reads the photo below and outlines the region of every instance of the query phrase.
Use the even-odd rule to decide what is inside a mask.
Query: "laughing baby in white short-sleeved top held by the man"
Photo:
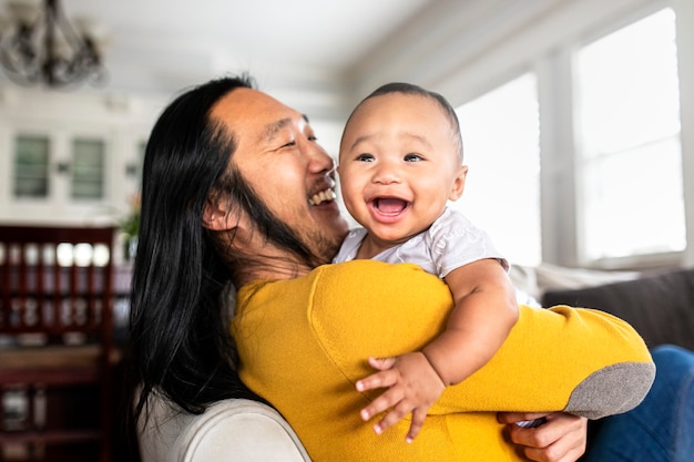
[[[467,172],[458,117],[438,93],[384,85],[345,126],[340,187],[364,228],[349,233],[334,261],[417,264],[443,278],[455,301],[439,337],[418,352],[369,358],[379,372],[357,382],[359,391],[388,389],[361,410],[364,420],[389,410],[377,433],[412,413],[408,442],[445,387],[487,363],[518,320],[507,261],[484,232],[446,206],[462,195]]]

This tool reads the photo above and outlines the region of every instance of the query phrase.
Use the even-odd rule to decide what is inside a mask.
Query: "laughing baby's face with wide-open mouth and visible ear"
[[[427,229],[462,194],[467,168],[453,140],[447,114],[430,97],[389,93],[364,102],[339,153],[349,213],[384,243]]]

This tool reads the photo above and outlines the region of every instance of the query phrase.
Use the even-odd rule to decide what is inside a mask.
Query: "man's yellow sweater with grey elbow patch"
[[[414,443],[409,421],[377,435],[359,410],[377,393],[355,382],[369,356],[421,349],[446,325],[448,287],[415,265],[355,260],[241,288],[232,333],[241,377],[296,430],[315,462],[518,461],[496,411],[623,412],[654,366],[641,337],[600,311],[521,307],[492,360],[447,388]],[[616,383],[619,387],[615,387]]]

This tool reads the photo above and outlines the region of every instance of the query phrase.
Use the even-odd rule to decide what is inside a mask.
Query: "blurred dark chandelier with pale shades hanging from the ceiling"
[[[43,8],[28,0],[10,0],[8,9],[10,21],[0,27],[0,65],[11,81],[49,88],[104,81],[94,23],[82,20],[74,28],[59,0],[45,0]]]

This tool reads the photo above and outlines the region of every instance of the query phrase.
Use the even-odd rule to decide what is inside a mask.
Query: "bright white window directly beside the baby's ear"
[[[451,204],[489,233],[512,264],[541,260],[540,127],[537,79],[527,73],[457,110],[465,163]]]

